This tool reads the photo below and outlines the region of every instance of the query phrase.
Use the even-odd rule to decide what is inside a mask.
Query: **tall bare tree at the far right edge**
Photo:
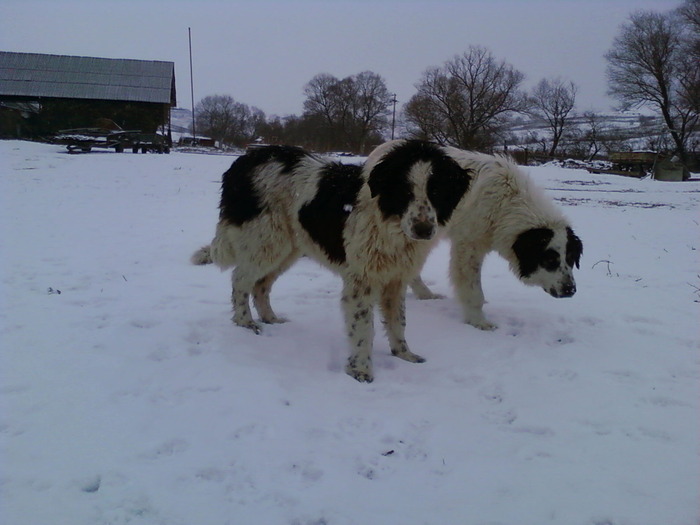
[[[683,162],[698,123],[697,61],[688,64],[682,31],[669,14],[639,11],[620,28],[608,61],[609,92],[624,106],[658,110]],[[690,69],[688,69],[690,68]]]

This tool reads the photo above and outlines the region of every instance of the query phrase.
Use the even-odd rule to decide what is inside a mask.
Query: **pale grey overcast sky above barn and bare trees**
[[[525,74],[562,77],[577,109],[608,110],[605,59],[636,10],[681,0],[2,0],[0,49],[175,62],[177,101],[224,94],[266,114],[300,114],[304,85],[370,70],[399,104],[430,66],[470,45]]]

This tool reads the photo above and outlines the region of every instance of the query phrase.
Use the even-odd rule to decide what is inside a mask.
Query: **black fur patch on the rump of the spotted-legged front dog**
[[[240,226],[260,215],[263,204],[255,184],[255,170],[268,162],[283,165],[282,173],[291,172],[308,155],[294,146],[266,146],[238,157],[221,180],[219,218]]]

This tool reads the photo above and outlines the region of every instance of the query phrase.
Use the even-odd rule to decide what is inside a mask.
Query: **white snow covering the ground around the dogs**
[[[577,295],[490,256],[479,331],[443,242],[448,298],[407,301],[428,361],[378,326],[365,385],[337,277],[301,260],[256,336],[189,264],[231,161],[0,142],[3,524],[698,523],[696,183],[530,169],[583,239]]]

